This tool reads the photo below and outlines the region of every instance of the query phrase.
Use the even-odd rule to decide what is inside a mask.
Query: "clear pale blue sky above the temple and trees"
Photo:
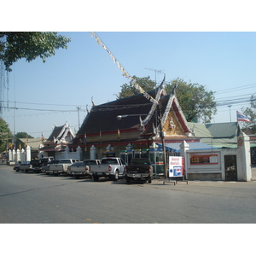
[[[129,83],[107,51],[90,32],[60,32],[72,38],[45,63],[20,60],[9,75],[9,107],[15,111],[15,131],[33,137],[49,137],[52,126],[66,121],[78,131],[91,108],[116,99],[120,86]],[[166,81],[181,78],[216,91],[217,102],[244,98],[218,108],[212,122],[236,121],[236,110],[247,107],[256,93],[256,32],[96,32],[125,70],[137,77],[166,73]],[[157,73],[157,82],[163,79]],[[241,100],[243,101],[243,100]],[[81,108],[79,114],[77,107]],[[28,109],[21,109],[28,108]],[[52,111],[54,110],[54,111]],[[120,113],[121,114],[121,113]],[[14,130],[14,111],[3,119]]]

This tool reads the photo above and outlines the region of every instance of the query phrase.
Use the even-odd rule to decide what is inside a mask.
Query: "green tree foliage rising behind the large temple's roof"
[[[143,90],[149,91],[154,89],[154,81],[146,78],[137,78]],[[212,90],[207,91],[205,86],[201,84],[191,84],[183,81],[183,79],[173,79],[170,83],[166,83],[166,93],[172,92],[173,88],[177,86],[175,93],[177,100],[183,110],[186,119],[189,122],[210,123],[212,116],[217,113],[216,102]],[[127,96],[136,95],[138,91],[131,84],[121,85],[121,92],[117,99]]]

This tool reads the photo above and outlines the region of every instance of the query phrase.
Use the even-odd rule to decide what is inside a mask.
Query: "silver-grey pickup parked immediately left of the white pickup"
[[[72,177],[86,177],[90,176],[90,166],[97,166],[101,164],[101,160],[84,160],[83,162],[75,162],[67,167],[67,174]]]

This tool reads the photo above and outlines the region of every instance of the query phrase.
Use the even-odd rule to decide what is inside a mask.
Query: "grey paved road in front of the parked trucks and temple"
[[[52,177],[0,166],[2,224],[256,223],[252,182],[131,183]]]

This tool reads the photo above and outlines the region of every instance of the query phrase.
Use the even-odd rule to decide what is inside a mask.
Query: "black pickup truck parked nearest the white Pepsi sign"
[[[147,158],[133,158],[130,165],[126,166],[125,180],[131,183],[131,180],[152,182],[153,167]]]

